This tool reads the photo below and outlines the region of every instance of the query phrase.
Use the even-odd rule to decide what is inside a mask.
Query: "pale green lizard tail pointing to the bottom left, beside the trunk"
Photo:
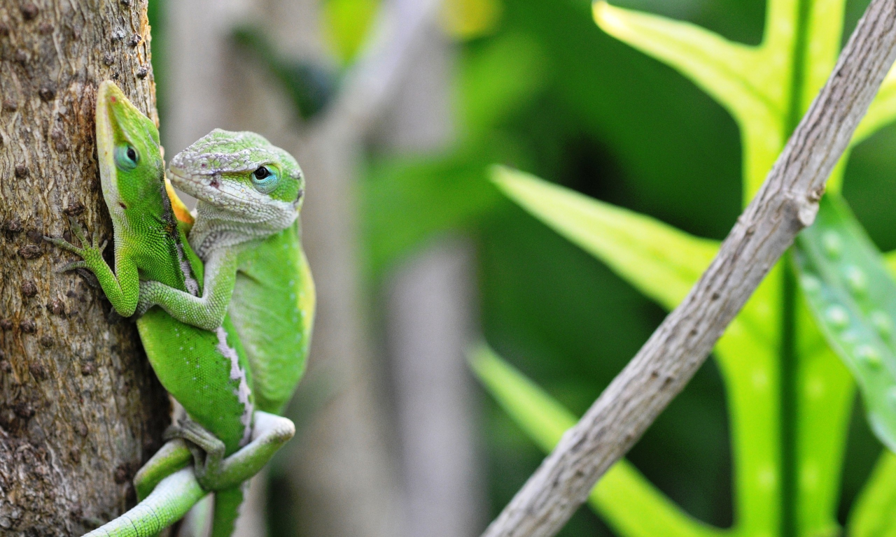
[[[133,509],[83,537],[144,537],[176,523],[205,496],[193,467],[172,473]]]

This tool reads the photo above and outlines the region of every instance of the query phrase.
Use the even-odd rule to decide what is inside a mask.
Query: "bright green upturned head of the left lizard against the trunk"
[[[152,120],[115,82],[104,81],[97,92],[96,121],[99,174],[109,212],[124,217],[128,209],[160,200],[165,163]]]

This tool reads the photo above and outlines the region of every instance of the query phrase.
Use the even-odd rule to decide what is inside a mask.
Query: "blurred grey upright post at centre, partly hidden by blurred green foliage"
[[[436,21],[424,37],[376,128],[376,140],[390,153],[438,152],[452,142],[453,44]],[[483,522],[485,499],[476,391],[465,358],[476,325],[473,247],[460,236],[422,246],[393,267],[383,285],[401,447],[402,535],[469,537]]]

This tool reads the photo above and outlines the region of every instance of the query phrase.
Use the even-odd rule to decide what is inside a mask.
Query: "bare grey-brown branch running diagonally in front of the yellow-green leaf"
[[[685,301],[591,405],[483,537],[549,537],[683,389],[799,231],[896,58],[896,0],[874,0],[754,200]]]

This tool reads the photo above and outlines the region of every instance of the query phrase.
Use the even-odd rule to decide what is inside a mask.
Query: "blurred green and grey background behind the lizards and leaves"
[[[762,0],[615,4],[762,36]],[[845,36],[867,0],[848,4]],[[490,164],[714,239],[739,214],[732,119],[601,32],[588,0],[150,0],[150,11],[168,157],[214,127],[252,130],[307,177],[310,369],[289,407],[297,439],[255,480],[244,535],[478,535],[542,454],[478,387],[468,347],[485,339],[582,413],[662,320],[504,200]],[[889,127],[846,174],[883,250],[896,247],[894,171]],[[842,513],[878,449],[857,414]],[[731,523],[712,361],[630,460],[694,516]],[[587,507],[561,534],[611,535]]]

